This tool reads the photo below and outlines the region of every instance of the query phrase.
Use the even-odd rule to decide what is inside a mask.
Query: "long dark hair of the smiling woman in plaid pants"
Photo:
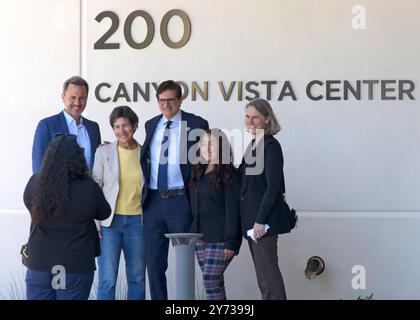
[[[220,129],[207,130],[207,135],[212,135],[217,140],[218,162],[214,164],[214,169],[209,173],[210,186],[219,191],[222,187],[232,183],[231,175],[234,170],[233,153],[226,135]],[[202,139],[202,137],[201,137]],[[200,141],[201,141],[200,139]],[[203,158],[200,163],[191,167],[191,177],[189,186],[194,187],[201,176],[206,173],[208,163]]]

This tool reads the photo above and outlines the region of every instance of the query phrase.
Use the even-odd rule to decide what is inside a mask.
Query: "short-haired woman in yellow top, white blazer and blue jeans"
[[[116,107],[110,117],[116,141],[99,147],[92,176],[111,206],[111,216],[97,223],[101,244],[98,257],[97,298],[114,300],[121,251],[127,276],[127,299],[145,299],[145,261],[140,167],[140,144],[133,135],[138,117],[127,106]]]

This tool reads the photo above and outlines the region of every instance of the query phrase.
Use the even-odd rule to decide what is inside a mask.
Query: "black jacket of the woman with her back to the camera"
[[[30,178],[23,195],[29,212],[37,177]],[[111,208],[95,181],[73,180],[65,211],[36,224],[28,242],[28,267],[51,272],[53,266],[61,265],[67,272],[94,271],[98,249],[94,219],[105,220],[110,214]]]

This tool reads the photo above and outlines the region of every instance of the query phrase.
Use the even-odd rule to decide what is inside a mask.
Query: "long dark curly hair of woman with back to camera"
[[[77,144],[76,136],[61,135],[51,140],[34,188],[34,222],[62,214],[69,200],[70,182],[88,176],[84,152]]]

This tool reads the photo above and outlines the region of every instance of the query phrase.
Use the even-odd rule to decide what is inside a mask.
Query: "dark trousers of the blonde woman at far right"
[[[263,300],[286,300],[277,256],[277,235],[266,235],[255,243],[248,240],[258,286]]]

